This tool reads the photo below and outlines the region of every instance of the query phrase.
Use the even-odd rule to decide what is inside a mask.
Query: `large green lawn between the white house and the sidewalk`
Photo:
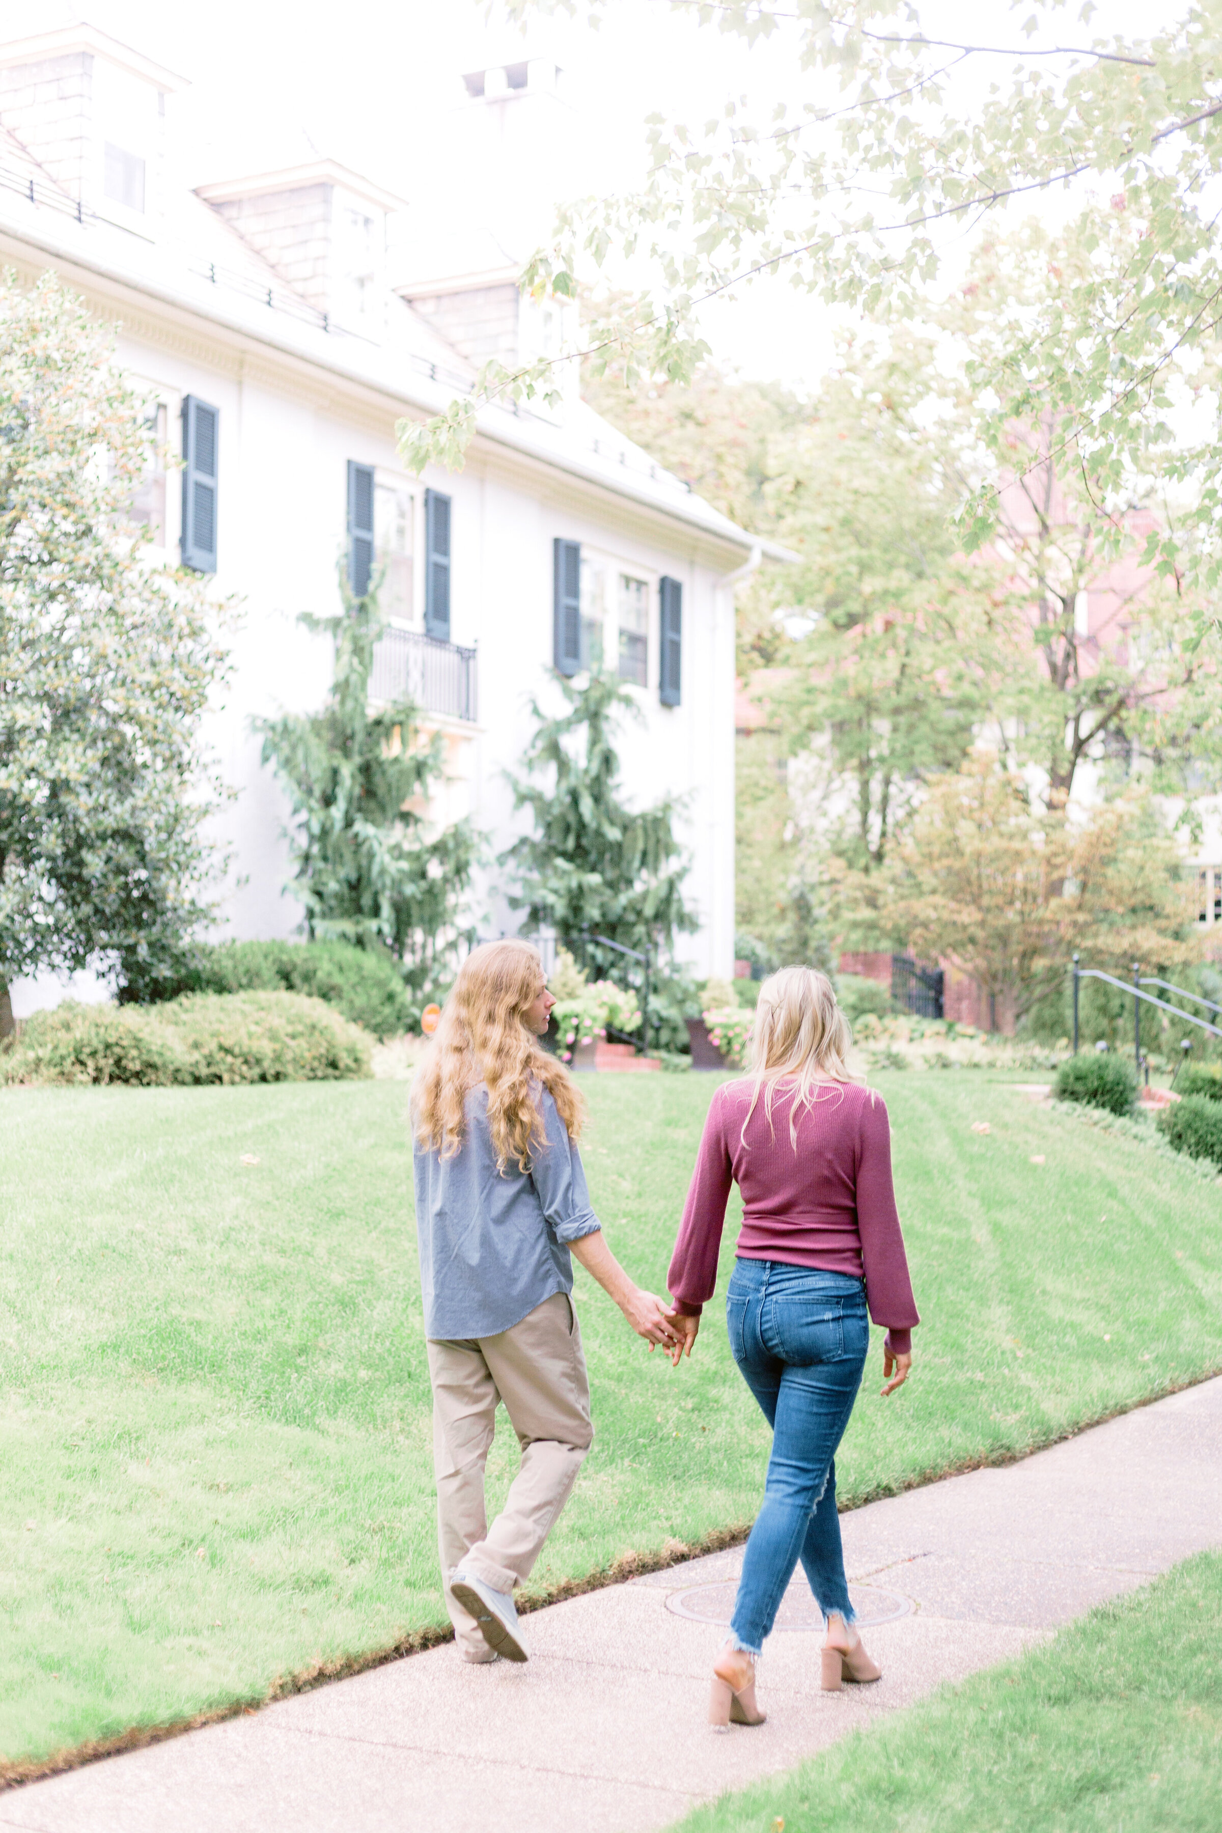
[[[846,1501],[1222,1366],[1213,1186],[978,1072],[879,1081],[927,1322],[889,1402],[876,1344]],[[658,1289],[713,1087],[588,1083],[595,1206]],[[443,1622],[403,1116],[403,1083],[0,1092],[9,1762]],[[747,1523],[768,1448],[718,1305],[678,1371],[584,1276],[581,1309],[597,1439],[542,1587]]]

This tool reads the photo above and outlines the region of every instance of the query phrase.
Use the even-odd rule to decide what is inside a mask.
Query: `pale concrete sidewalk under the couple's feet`
[[[788,1769],[942,1681],[1222,1542],[1222,1378],[1004,1470],[843,1516],[883,1681],[819,1692],[795,1584],[764,1653],[758,1729],[715,1738],[709,1663],[742,1553],[531,1615],[528,1666],[412,1655],[253,1718],[0,1795],[37,1833],[636,1833]]]

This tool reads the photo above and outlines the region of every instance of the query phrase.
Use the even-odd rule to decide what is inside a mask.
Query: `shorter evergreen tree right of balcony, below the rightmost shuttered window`
[[[680,805],[667,796],[632,810],[619,799],[619,757],[612,731],[621,711],[638,713],[610,675],[586,687],[561,680],[568,711],[548,719],[537,702],[535,737],[524,774],[511,775],[515,808],[529,808],[535,830],[502,863],[513,865],[528,924],[555,929],[592,971],[623,971],[623,957],[590,942],[605,935],[638,953],[674,957],[674,937],[698,927],[683,902],[689,860],[674,836]]]

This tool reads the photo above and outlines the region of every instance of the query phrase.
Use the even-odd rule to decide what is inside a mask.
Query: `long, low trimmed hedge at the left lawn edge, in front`
[[[185,993],[158,1006],[35,1012],[0,1056],[0,1080],[174,1087],[346,1081],[368,1076],[370,1039],[322,999]]]

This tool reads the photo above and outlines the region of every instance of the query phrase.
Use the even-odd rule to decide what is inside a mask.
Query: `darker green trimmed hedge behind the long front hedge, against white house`
[[[420,1028],[420,1004],[388,955],[350,942],[222,942],[200,955],[202,993],[306,993],[374,1037]]]

